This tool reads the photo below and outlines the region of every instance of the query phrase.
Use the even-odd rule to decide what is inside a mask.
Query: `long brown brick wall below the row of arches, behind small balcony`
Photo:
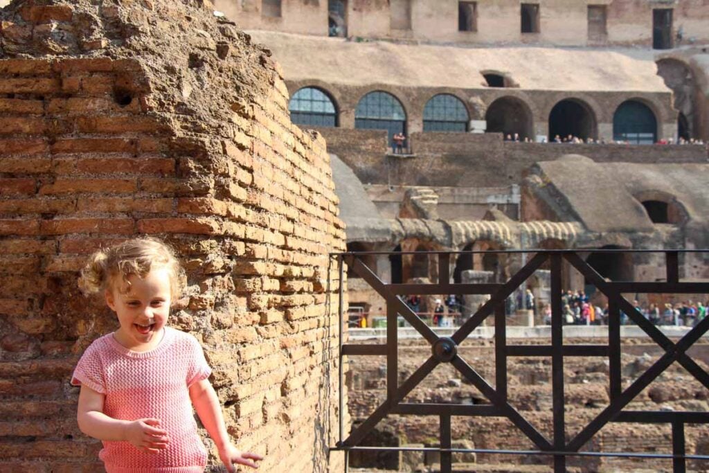
[[[520,184],[538,161],[579,154],[596,162],[706,162],[696,145],[566,145],[510,143],[499,133],[411,133],[413,157],[387,156],[380,130],[318,128],[328,150],[372,184],[445,187],[494,187]]]

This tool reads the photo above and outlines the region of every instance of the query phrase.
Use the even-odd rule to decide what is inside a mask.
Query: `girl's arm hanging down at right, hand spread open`
[[[202,379],[189,386],[189,397],[192,400],[194,409],[197,411],[199,420],[202,421],[207,433],[216,443],[219,450],[219,458],[230,473],[236,472],[234,463],[245,464],[248,467],[258,468],[253,460],[263,460],[260,455],[237,450],[229,439],[229,434],[224,425],[221,405],[214,388],[208,379]]]

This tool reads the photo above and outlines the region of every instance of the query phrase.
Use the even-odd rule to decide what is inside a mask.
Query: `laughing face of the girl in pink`
[[[131,275],[128,282],[130,288],[121,281],[114,284],[118,287],[106,290],[106,304],[121,324],[116,340],[130,350],[150,350],[160,343],[169,316],[169,272],[167,268],[151,269],[144,278]]]

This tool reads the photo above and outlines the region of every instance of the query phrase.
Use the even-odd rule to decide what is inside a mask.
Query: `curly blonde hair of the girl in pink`
[[[172,302],[182,296],[185,273],[174,250],[152,237],[133,238],[109,248],[94,252],[79,277],[79,289],[86,295],[97,294],[116,287],[121,277],[130,290],[130,276],[145,277],[150,269],[167,268],[170,276]]]

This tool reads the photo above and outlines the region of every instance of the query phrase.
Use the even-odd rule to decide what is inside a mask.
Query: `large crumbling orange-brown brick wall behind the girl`
[[[186,265],[171,323],[203,344],[238,445],[267,472],[340,468],[344,230],[269,52],[208,2],[16,1],[0,21],[0,470],[101,471],[69,376],[117,323],[77,270],[138,234]]]

